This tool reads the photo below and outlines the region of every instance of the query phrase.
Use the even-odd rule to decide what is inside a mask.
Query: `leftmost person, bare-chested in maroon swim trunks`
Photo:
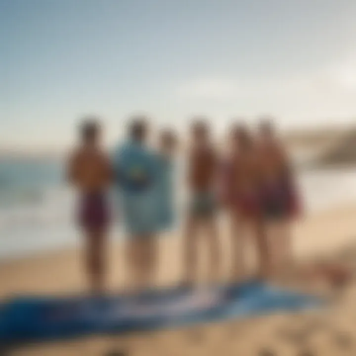
[[[87,119],[80,129],[81,142],[69,157],[68,180],[79,191],[78,222],[85,234],[85,259],[93,293],[105,287],[105,247],[109,226],[107,189],[112,168],[100,146],[101,129],[96,119]]]

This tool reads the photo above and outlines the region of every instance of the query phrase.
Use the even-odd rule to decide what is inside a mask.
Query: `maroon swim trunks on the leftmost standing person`
[[[86,193],[80,199],[79,225],[85,229],[105,229],[109,223],[109,206],[104,193]]]

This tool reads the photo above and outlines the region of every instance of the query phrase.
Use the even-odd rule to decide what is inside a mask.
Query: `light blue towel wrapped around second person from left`
[[[167,228],[172,219],[168,162],[132,141],[115,151],[113,161],[127,232],[151,235]]]

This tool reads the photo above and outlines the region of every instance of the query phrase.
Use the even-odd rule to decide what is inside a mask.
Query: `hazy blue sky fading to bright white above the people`
[[[0,0],[0,147],[107,142],[130,115],[281,128],[356,118],[354,0]]]

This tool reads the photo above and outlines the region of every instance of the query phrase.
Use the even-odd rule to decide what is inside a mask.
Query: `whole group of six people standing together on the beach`
[[[105,289],[106,235],[114,216],[108,194],[113,188],[128,235],[125,256],[131,287],[150,288],[158,265],[156,237],[172,228],[177,215],[178,135],[164,130],[156,140],[158,146],[150,147],[148,119],[134,117],[127,139],[110,155],[101,147],[98,121],[86,120],[80,134],[80,143],[69,157],[68,179],[79,191],[78,223],[86,235],[90,287],[94,293]],[[192,122],[185,155],[188,202],[182,230],[181,282],[186,285],[197,280],[199,235],[209,248],[210,280],[219,282],[220,212],[229,218],[232,280],[247,276],[248,239],[256,246],[258,277],[272,275],[292,259],[289,225],[299,212],[299,201],[289,159],[272,121],[261,120],[254,134],[237,122],[229,128],[227,142],[223,154],[213,143],[208,120]]]

